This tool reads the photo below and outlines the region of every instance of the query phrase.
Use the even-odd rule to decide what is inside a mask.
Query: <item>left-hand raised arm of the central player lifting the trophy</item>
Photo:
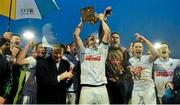
[[[76,27],[76,29],[74,31],[74,42],[75,42],[75,44],[77,45],[78,48],[83,46],[82,40],[81,40],[81,38],[79,36],[82,27],[83,27],[83,22],[82,22],[82,19],[81,19],[79,25]]]

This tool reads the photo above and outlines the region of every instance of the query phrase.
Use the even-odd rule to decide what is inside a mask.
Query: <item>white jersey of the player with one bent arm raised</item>
[[[152,79],[152,65],[153,63],[149,60],[149,55],[143,55],[140,58],[131,57],[129,62],[133,67],[141,66],[141,76],[139,79],[134,80],[133,90],[144,90],[147,87],[154,87]]]

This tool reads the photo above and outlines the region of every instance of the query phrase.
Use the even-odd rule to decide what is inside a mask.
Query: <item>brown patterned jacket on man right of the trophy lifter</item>
[[[106,61],[106,76],[112,82],[118,82],[122,74],[126,75],[127,79],[131,79],[131,73],[127,69],[130,66],[129,53],[127,50],[119,48],[109,48],[107,61]],[[120,73],[122,70],[123,73]]]

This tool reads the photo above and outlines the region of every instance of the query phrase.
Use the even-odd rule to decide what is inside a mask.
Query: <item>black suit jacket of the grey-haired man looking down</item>
[[[37,62],[37,103],[38,104],[65,104],[66,80],[57,81],[57,76],[70,67],[69,63],[61,60],[59,68],[52,57]]]

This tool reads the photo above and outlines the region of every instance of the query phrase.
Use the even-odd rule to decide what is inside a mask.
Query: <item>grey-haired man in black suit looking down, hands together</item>
[[[54,44],[50,56],[37,62],[38,104],[65,104],[66,83],[73,74],[69,63],[62,59],[63,54],[64,46]]]

